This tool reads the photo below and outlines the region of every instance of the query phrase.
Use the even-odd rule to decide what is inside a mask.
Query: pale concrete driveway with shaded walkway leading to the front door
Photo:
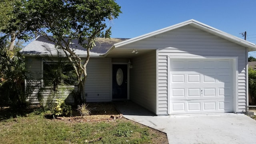
[[[125,118],[165,132],[169,144],[256,143],[256,120],[244,114],[154,116],[131,101],[114,103]]]

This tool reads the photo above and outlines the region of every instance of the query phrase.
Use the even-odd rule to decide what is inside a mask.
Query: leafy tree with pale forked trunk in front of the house
[[[121,13],[115,0],[3,0],[0,5],[4,8],[0,11],[0,32],[8,34],[12,40],[44,36],[64,51],[76,71],[77,100],[81,101],[81,96],[85,95],[90,49],[96,37],[110,38],[108,24]],[[72,40],[78,40],[85,48],[85,60],[70,48]]]

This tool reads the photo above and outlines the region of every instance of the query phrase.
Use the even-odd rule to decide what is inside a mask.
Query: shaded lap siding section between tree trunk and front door
[[[85,92],[87,102],[110,102],[110,58],[90,58]]]

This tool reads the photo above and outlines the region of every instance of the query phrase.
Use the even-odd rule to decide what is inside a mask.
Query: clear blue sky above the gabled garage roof
[[[256,43],[256,0],[116,0],[122,14],[109,22],[112,38],[134,38],[194,19]],[[256,57],[256,52],[248,56]]]

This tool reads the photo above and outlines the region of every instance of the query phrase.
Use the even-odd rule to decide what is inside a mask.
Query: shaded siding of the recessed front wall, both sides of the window
[[[90,58],[87,65],[87,80],[86,80],[86,100],[87,102],[109,102],[110,97],[110,58]],[[28,101],[38,104],[37,93],[41,86],[42,77],[42,58],[40,57],[27,57],[26,58],[27,70],[31,73],[29,76],[34,81],[34,90],[32,96]],[[49,95],[49,90],[44,92],[44,100]],[[64,90],[65,97],[68,102],[73,102],[70,90]]]

